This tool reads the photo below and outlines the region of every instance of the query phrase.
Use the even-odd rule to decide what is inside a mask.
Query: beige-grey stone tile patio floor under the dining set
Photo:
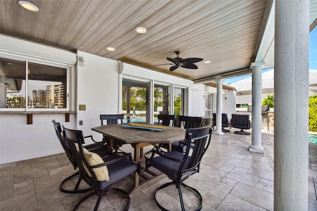
[[[212,135],[211,145],[202,159],[201,170],[185,181],[199,189],[204,211],[272,211],[273,210],[273,133],[262,133],[264,154],[251,153],[251,135]],[[57,137],[56,137],[56,141]],[[309,145],[308,207],[317,210],[317,145]],[[151,147],[152,148],[152,147]],[[149,149],[151,149],[149,148]],[[124,151],[132,152],[130,145]],[[147,152],[145,150],[145,152]],[[0,165],[0,210],[69,211],[86,196],[59,191],[60,182],[74,171],[64,153],[21,160]],[[133,187],[132,175],[114,184],[125,190]],[[167,177],[131,195],[129,211],[156,211],[154,192]],[[66,187],[74,187],[76,180]],[[82,185],[84,188],[85,184]],[[169,210],[181,210],[176,188],[169,187],[158,194]],[[183,189],[187,210],[197,208],[196,197]],[[83,203],[78,210],[93,210],[97,197]],[[122,210],[127,201],[110,192],[103,197],[99,210]]]

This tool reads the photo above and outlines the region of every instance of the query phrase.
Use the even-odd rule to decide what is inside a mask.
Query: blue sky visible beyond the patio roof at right
[[[315,29],[311,31],[311,33],[309,33],[309,68],[313,70],[317,70],[317,27],[315,27]],[[262,72],[266,72],[271,69],[272,68],[264,69],[262,70]],[[240,81],[242,79],[249,78],[249,77],[251,77],[251,75],[228,78],[228,79],[225,79],[223,83],[232,84],[236,81]]]

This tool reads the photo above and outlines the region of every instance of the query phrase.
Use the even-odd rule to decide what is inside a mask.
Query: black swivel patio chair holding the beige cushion
[[[129,194],[118,188],[110,187],[114,182],[123,179],[131,173],[140,174],[140,163],[136,163],[132,159],[131,153],[129,154],[110,154],[101,158],[98,154],[84,150],[83,144],[85,143],[84,134],[80,130],[71,130],[65,127],[63,135],[67,142],[72,158],[78,164],[81,176],[87,181],[94,192],[85,196],[75,206],[74,210],[88,198],[93,195],[98,195],[98,199],[94,211],[98,210],[100,201],[103,196],[106,196],[107,191],[111,191],[120,196],[126,197],[128,205],[125,210],[130,207]],[[78,148],[78,150],[77,150]]]

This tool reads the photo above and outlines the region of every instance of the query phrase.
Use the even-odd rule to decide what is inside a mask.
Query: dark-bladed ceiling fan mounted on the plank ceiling
[[[178,55],[180,54],[180,51],[176,51],[175,53],[177,55],[176,58],[166,57],[167,60],[173,62],[169,64],[174,64],[174,66],[171,66],[169,68],[169,71],[174,71],[178,67],[184,67],[188,69],[198,69],[198,66],[194,63],[203,60],[202,58],[181,58],[181,57],[178,57]],[[159,64],[159,65],[168,65],[168,64]],[[156,66],[159,66],[159,65],[156,65]]]

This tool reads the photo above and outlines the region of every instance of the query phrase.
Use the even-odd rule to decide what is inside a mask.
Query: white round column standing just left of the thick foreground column
[[[261,139],[262,68],[264,61],[251,63],[252,68],[252,143],[250,152],[264,153]]]

